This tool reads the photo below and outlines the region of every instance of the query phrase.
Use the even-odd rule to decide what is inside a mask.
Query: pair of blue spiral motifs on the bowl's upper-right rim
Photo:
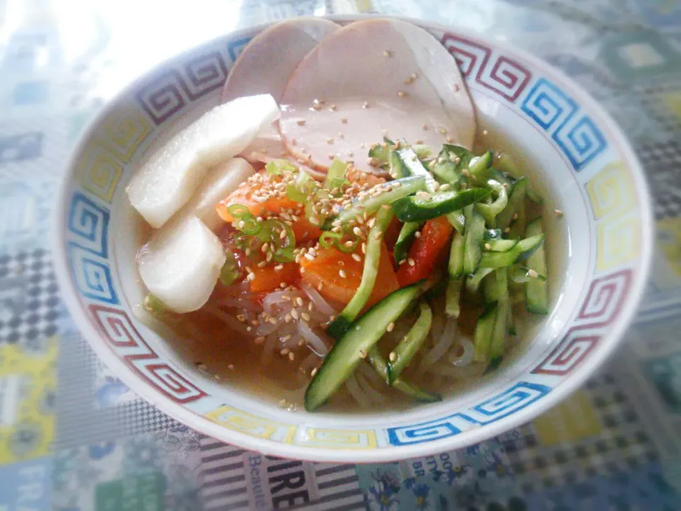
[[[537,80],[521,108],[551,134],[577,172],[607,149],[607,141],[596,123],[579,114],[577,103],[546,78]]]

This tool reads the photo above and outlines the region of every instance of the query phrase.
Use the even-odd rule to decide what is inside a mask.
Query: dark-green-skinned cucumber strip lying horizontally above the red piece
[[[489,194],[490,191],[484,188],[471,188],[462,192],[447,190],[429,194],[428,198],[417,194],[399,199],[393,207],[395,216],[401,221],[426,221],[475,204],[489,197]]]

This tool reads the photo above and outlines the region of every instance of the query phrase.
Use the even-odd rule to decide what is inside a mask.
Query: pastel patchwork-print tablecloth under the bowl
[[[655,202],[653,276],[616,357],[548,414],[384,465],[265,458],[157,412],[74,329],[50,263],[79,129],[140,72],[233,28],[380,12],[508,40],[624,126]],[[681,3],[0,0],[0,511],[681,509]]]

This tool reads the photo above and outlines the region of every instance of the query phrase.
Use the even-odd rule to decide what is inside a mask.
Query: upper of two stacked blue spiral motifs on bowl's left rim
[[[109,211],[97,206],[81,192],[71,199],[67,229],[79,238],[79,245],[87,251],[107,258]]]

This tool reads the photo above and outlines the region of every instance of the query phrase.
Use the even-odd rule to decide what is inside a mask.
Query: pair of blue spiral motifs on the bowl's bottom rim
[[[537,383],[520,382],[491,399],[480,403],[467,414],[457,413],[420,424],[388,428],[388,441],[394,446],[421,444],[454,436],[472,426],[489,424],[518,412],[550,392]]]

